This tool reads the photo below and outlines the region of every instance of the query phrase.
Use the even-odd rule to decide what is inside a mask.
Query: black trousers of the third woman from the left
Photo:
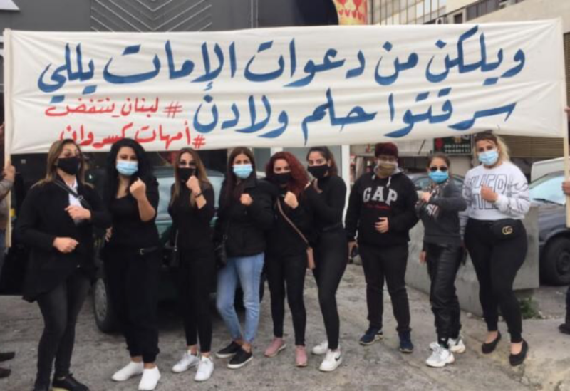
[[[180,249],[178,274],[186,345],[196,345],[199,337],[200,351],[209,353],[212,348],[209,292],[216,281],[214,249]]]

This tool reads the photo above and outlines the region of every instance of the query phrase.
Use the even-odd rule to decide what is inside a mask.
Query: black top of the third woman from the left
[[[174,194],[174,185],[172,185]],[[203,249],[212,247],[212,229],[210,223],[214,218],[214,189],[211,185],[202,185],[202,194],[206,204],[201,209],[190,204],[190,189],[180,188],[180,195],[171,202],[168,213],[172,217],[174,229],[178,234],[178,247],[181,249]]]

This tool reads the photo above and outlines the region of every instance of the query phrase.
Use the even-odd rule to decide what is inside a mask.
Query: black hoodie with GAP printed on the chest
[[[410,241],[410,229],[418,222],[415,203],[418,193],[413,182],[401,171],[388,178],[363,174],[353,186],[346,212],[346,235],[370,246],[395,246]],[[388,218],[388,232],[380,234],[375,224]]]

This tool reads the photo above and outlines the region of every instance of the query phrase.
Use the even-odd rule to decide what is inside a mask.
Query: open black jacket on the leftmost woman
[[[93,226],[108,228],[110,214],[92,187],[78,183],[77,192],[91,208],[91,220],[79,224],[65,210],[69,206],[68,192],[53,182],[36,184],[24,199],[14,234],[31,249],[24,284],[24,298],[28,301],[56,288],[77,269],[95,277]],[[71,253],[63,254],[53,247],[57,237],[76,239],[79,244]]]

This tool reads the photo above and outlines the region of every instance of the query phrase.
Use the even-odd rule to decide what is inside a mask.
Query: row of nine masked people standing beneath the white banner
[[[489,328],[483,352],[492,352],[501,338],[497,329],[498,307],[509,326],[513,365],[524,360],[528,348],[522,339],[521,315],[512,292],[514,276],[526,253],[526,235],[520,219],[529,209],[527,182],[517,167],[509,163],[506,147],[497,137],[482,135],[475,145],[482,165],[467,173],[463,194],[452,185],[447,157],[435,155],[427,169],[433,185],[422,195],[415,211],[426,229],[422,260],[427,261],[432,278],[431,301],[437,326],[437,343],[432,344],[434,352],[427,360],[431,366],[452,363],[452,353],[465,350],[459,335],[460,311],[454,287],[455,274],[463,259],[462,239],[458,234],[458,214],[462,209],[467,209],[465,246],[481,283],[480,297]],[[385,144],[384,149],[377,150],[386,147],[390,146]],[[274,357],[286,348],[286,299],[294,326],[294,363],[306,367],[304,282],[306,270],[312,269],[326,339],[315,345],[311,353],[324,356],[319,368],[324,372],[341,365],[336,291],[348,263],[348,241],[354,236],[353,232],[348,235],[343,226],[347,189],[327,147],[311,148],[306,160],[307,168],[291,153],[278,152],[271,157],[266,178],[261,180],[257,178],[252,152],[247,147],[234,148],[219,194],[218,219],[213,230],[210,227],[216,213],[214,189],[202,160],[190,148],[178,152],[168,212],[178,250],[180,270],[176,274],[186,348],[172,372],[197,368],[198,382],[212,376],[209,286],[215,281],[217,310],[229,331],[229,344],[215,355],[229,359],[230,369],[243,367],[252,360],[264,270],[271,291],[274,325],[274,339],[265,356]],[[390,198],[393,194],[390,184],[395,186],[403,179],[393,175],[398,170],[395,160],[390,160],[390,164],[380,161],[378,156],[377,160],[378,178],[372,173],[371,180],[387,181],[387,186],[381,182],[386,194],[385,197],[375,194],[372,199],[377,202],[377,209],[385,209],[395,202]],[[70,365],[76,320],[96,271],[95,228],[106,229],[101,256],[110,298],[130,356],[112,379],[125,382],[142,375],[138,389],[154,390],[161,376],[155,361],[159,353],[157,289],[163,257],[155,225],[158,183],[152,176],[145,151],[130,139],[113,145],[108,155],[103,197],[85,182],[86,162],[73,140],[53,143],[47,167],[46,177],[28,192],[16,228],[16,234],[31,249],[24,298],[37,301],[45,323],[33,390],[46,391],[50,387],[56,391],[88,390],[73,377]],[[415,189],[412,187],[410,192],[415,194]],[[409,199],[418,197],[408,197],[407,204]],[[409,230],[418,217],[398,222],[398,216],[390,214],[371,224],[378,235],[389,235],[391,230]],[[362,226],[358,226],[359,230]],[[499,237],[497,229],[511,233]],[[387,244],[387,251],[388,247]],[[243,291],[243,327],[234,307],[238,286]],[[374,292],[371,290],[370,294]],[[400,295],[398,300],[402,298]],[[407,311],[407,324],[399,331],[400,338],[407,335],[409,344],[404,345],[403,351],[409,353],[413,345],[409,308]],[[380,335],[381,328],[373,330],[373,337]]]

